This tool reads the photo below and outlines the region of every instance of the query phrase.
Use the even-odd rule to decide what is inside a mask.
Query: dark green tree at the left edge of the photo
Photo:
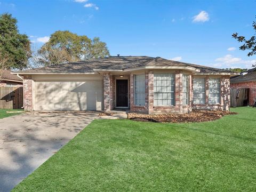
[[[17,19],[7,13],[0,15],[0,54],[8,58],[6,69],[25,68],[31,57],[28,36],[19,34]]]

